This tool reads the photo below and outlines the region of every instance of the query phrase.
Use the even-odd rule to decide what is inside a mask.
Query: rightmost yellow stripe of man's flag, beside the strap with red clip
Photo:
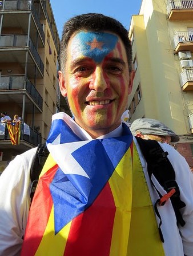
[[[164,256],[154,208],[135,145],[132,176],[132,214],[127,255]]]

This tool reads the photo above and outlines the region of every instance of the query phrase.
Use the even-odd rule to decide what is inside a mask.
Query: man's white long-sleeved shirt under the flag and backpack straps
[[[90,135],[80,128],[69,116],[64,113],[58,113],[53,116],[53,119],[58,118],[57,115],[61,115],[82,140],[92,139]],[[102,137],[119,136],[121,132],[122,125]],[[159,196],[151,186],[147,174],[147,164],[135,138],[134,142],[138,148],[152,203],[155,203]],[[163,243],[164,251],[166,256],[183,256],[184,254],[192,256],[193,175],[183,156],[179,155],[179,153],[168,144],[164,143],[161,144],[161,146],[164,151],[168,151],[169,153],[168,159],[171,161],[175,170],[176,182],[180,188],[180,198],[186,203],[186,207],[182,210],[186,225],[184,227],[179,226],[179,229],[178,226],[176,226],[176,218],[170,200],[168,200],[163,207],[159,208],[160,215],[162,216],[162,233],[165,239]],[[36,150],[37,148],[33,148],[15,157],[0,177],[0,256],[20,255],[23,242],[22,237],[25,233],[30,207],[30,167]],[[165,194],[165,191],[156,180],[154,180],[154,184],[162,194]]]

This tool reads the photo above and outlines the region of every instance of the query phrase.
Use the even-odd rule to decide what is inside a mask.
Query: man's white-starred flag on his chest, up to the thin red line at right
[[[82,141],[54,120],[47,147],[21,255],[129,255],[133,144],[127,125],[120,137]]]

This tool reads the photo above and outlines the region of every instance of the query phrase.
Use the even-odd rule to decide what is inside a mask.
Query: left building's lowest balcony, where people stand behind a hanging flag
[[[2,126],[4,126],[5,128],[5,132],[2,132],[2,128],[1,128],[1,133],[0,133],[0,145],[1,148],[9,148],[10,146],[12,146],[11,141],[10,141],[10,136],[9,136],[9,132],[7,130],[6,124],[0,124]],[[30,135],[25,134],[25,129],[24,129],[24,125],[21,124],[21,136],[20,136],[20,145],[17,145],[17,147],[23,147],[23,146],[27,146],[27,144],[29,143],[31,146],[36,147],[39,143],[42,143],[42,136],[41,133],[35,131],[33,128],[30,128]],[[26,144],[27,142],[27,144]],[[28,147],[30,146],[28,145]],[[27,148],[26,148],[27,149]]]

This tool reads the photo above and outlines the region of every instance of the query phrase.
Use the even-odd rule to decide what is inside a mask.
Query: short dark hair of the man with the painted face
[[[93,31],[107,30],[117,34],[123,41],[127,54],[128,67],[130,71],[132,70],[132,48],[130,39],[128,38],[128,31],[116,19],[100,13],[87,13],[77,15],[65,23],[62,31],[60,54],[62,70],[65,69],[67,45],[69,43],[70,37],[75,33],[75,31],[83,29]]]

